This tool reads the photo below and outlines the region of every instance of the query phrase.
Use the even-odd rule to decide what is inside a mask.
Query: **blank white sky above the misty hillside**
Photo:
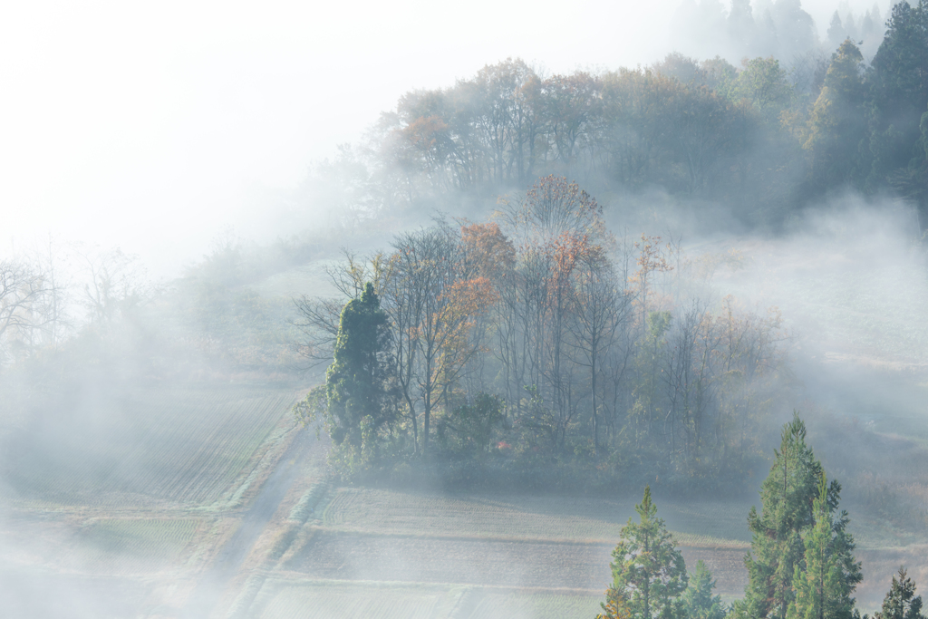
[[[52,233],[175,269],[225,225],[266,237],[240,227],[254,196],[294,187],[404,92],[510,56],[648,64],[678,4],[4,3],[0,251]],[[804,6],[821,29],[837,2]]]

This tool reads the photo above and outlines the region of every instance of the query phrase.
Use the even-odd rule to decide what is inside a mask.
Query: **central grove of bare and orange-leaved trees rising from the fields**
[[[776,313],[704,296],[738,262],[615,239],[596,200],[548,176],[492,222],[349,255],[331,272],[346,305],[300,299],[303,354],[331,365],[298,412],[325,421],[347,475],[424,460],[522,484],[570,463],[742,480],[785,334]]]

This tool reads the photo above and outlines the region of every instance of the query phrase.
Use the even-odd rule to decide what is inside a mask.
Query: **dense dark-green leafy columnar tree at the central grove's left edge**
[[[387,316],[368,283],[360,298],[342,309],[334,360],[326,371],[330,432],[336,445],[359,449],[365,427],[373,431],[389,420],[389,339]]]

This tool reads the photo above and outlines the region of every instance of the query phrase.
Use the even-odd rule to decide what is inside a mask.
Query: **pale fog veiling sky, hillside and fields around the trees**
[[[757,5],[759,21],[773,4]],[[414,125],[383,122],[384,112],[401,117],[404,102],[414,108],[414,97],[401,97],[450,92],[507,58],[522,58],[542,78],[653,67],[675,51],[747,68],[730,41],[681,31],[680,6],[5,7],[0,271],[19,279],[4,281],[0,294],[0,319],[15,316],[0,320],[8,328],[0,330],[2,613],[592,616],[611,582],[619,532],[638,518],[644,484],[653,486],[690,571],[704,561],[728,604],[748,582],[748,510],[760,507],[757,490],[794,410],[828,478],[844,484],[842,508],[864,561],[858,607],[879,609],[900,563],[923,587],[928,251],[918,200],[844,184],[771,207],[777,198],[746,198],[743,180],[741,198],[733,198],[734,190],[712,187],[728,182],[734,156],[707,165],[704,189],[692,166],[686,173],[670,157],[672,174],[611,185],[605,168],[589,162],[594,155],[564,163],[560,144],[556,156],[548,145],[526,182],[500,172],[496,184],[458,190],[451,164],[409,173],[402,162],[390,168],[384,154],[389,131]],[[709,0],[694,6],[717,8]],[[814,20],[816,58],[831,58],[836,9],[855,19],[878,10],[885,19],[891,6],[808,0],[802,8]],[[790,57],[781,67],[793,79],[795,58],[809,50],[778,49]],[[783,185],[806,187],[782,169]],[[390,176],[396,170],[406,175]],[[452,454],[446,462],[423,458],[420,466],[395,456],[419,455],[419,432],[429,432],[416,425],[425,396],[409,400],[415,438],[409,417],[397,418],[393,443],[369,453],[339,452],[341,439],[333,444],[334,426],[321,414],[306,424],[294,416],[294,405],[326,381],[333,345],[326,325],[338,326],[359,284],[381,285],[380,258],[435,230],[464,244],[474,224],[496,226],[518,239],[513,256],[529,255],[531,235],[516,234],[524,222],[507,227],[506,214],[542,171],[576,177],[599,200],[602,229],[583,230],[602,239],[629,299],[627,316],[640,316],[623,318],[638,339],[626,334],[628,342],[614,343],[625,346],[628,367],[658,368],[664,357],[656,351],[677,350],[697,324],[706,341],[728,337],[733,347],[725,316],[743,321],[745,341],[758,338],[744,344],[745,356],[763,351],[753,367],[719,370],[706,388],[714,391],[704,407],[718,419],[735,419],[739,406],[757,411],[737,418],[747,429],[738,441],[716,439],[724,458],[739,443],[736,464],[705,456],[709,464],[693,459],[705,468],[685,473],[657,462],[657,448],[625,458],[631,422],[610,427],[614,457],[600,456],[596,382],[581,381],[589,362],[577,361],[579,344],[570,358],[581,369],[568,377],[576,394],[563,406],[574,406],[576,417],[554,431],[555,451],[562,432],[561,451],[548,459],[533,455],[535,444],[517,454],[506,442],[516,435],[511,424],[496,429],[506,435],[488,425],[487,445],[476,453],[492,457],[475,465],[476,456],[455,452],[447,437],[460,431],[448,421],[454,389],[447,384],[432,426],[436,445]],[[546,234],[558,239],[552,229]],[[649,243],[666,262],[654,262],[650,283],[647,270],[642,283],[641,261],[650,259],[640,248]],[[481,266],[481,278],[492,278],[507,255]],[[21,265],[30,266],[17,272]],[[629,292],[638,287],[640,296]],[[388,306],[385,285],[380,294]],[[7,312],[4,300],[20,297],[25,309]],[[470,307],[483,320],[481,303]],[[316,322],[307,318],[312,312]],[[479,385],[481,394],[490,385],[509,406],[553,415],[556,390],[544,392],[541,379],[510,380],[494,342],[474,345],[473,368],[455,369],[461,384],[470,381],[474,393]],[[651,357],[640,353],[645,344]],[[706,350],[706,358],[722,355]],[[631,384],[614,379],[610,423],[621,398],[635,393],[620,394],[621,380]],[[592,405],[584,390],[594,394]],[[455,410],[474,401],[469,392]],[[638,408],[630,399],[625,405],[623,419],[642,414],[640,398]],[[592,442],[565,443],[568,429],[586,432],[576,411],[587,408]],[[735,424],[714,432],[734,436]],[[397,459],[365,470],[375,452]],[[649,457],[657,463],[638,461]],[[507,464],[516,458],[525,459]],[[712,458],[721,462],[715,469]]]

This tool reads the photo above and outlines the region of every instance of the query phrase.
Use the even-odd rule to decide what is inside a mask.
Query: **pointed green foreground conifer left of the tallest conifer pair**
[[[621,541],[612,550],[612,587],[607,595],[610,599],[625,596],[632,619],[667,619],[687,588],[686,563],[664,520],[657,517],[650,486],[645,487],[635,510],[640,522],[629,518],[622,527]]]

